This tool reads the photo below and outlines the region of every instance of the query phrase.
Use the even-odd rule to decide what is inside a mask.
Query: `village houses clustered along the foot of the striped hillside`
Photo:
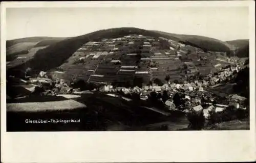
[[[232,105],[236,108],[243,108],[241,103],[245,101],[245,97],[241,97],[239,95],[229,95],[226,97],[227,102],[225,104],[222,101],[216,101],[218,95],[215,95],[211,91],[206,91],[210,86],[214,87],[217,83],[221,83],[226,80],[228,77],[232,76],[234,71],[239,71],[240,67],[229,67],[221,70],[218,74],[209,74],[204,77],[204,79],[200,82],[199,80],[195,80],[194,82],[184,82],[183,84],[176,83],[166,83],[163,86],[157,86],[153,84],[152,86],[143,86],[142,88],[134,87],[134,88],[124,88],[124,87],[116,87],[114,88],[112,85],[105,85],[101,88],[101,91],[104,92],[120,92],[122,91],[124,94],[132,94],[138,93],[140,94],[141,100],[147,100],[150,97],[151,92],[156,92],[163,94],[163,91],[167,91],[168,99],[163,101],[165,105],[169,108],[169,110],[177,110],[177,106],[174,103],[173,97],[175,94],[183,94],[183,100],[185,100],[186,109],[183,112],[203,112],[205,118],[209,117],[209,112],[214,110],[215,112],[221,112],[225,110],[226,107]],[[201,101],[204,99],[205,101]],[[161,99],[160,99],[161,100]],[[204,103],[203,103],[204,102]],[[221,103],[221,104],[219,104]],[[203,107],[202,104],[208,105],[207,107]]]

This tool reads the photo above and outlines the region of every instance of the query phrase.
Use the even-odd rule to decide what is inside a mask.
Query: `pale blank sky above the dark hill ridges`
[[[249,38],[248,7],[7,8],[7,40],[72,37],[97,30],[135,27],[222,41]]]

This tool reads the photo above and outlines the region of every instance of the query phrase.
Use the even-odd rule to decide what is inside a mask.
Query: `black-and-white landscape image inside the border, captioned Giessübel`
[[[249,130],[248,15],[7,8],[7,131]]]

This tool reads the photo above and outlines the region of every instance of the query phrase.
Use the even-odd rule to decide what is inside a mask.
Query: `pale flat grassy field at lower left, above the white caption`
[[[74,110],[86,107],[86,105],[75,100],[47,101],[47,102],[21,102],[7,103],[7,112],[44,112]]]

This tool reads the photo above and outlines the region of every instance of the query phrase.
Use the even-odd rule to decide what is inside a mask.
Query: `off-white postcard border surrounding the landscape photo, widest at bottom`
[[[250,17],[250,130],[6,132],[6,33],[9,7],[196,7],[248,6]],[[194,162],[255,161],[254,1],[175,2],[2,2],[2,162]]]

